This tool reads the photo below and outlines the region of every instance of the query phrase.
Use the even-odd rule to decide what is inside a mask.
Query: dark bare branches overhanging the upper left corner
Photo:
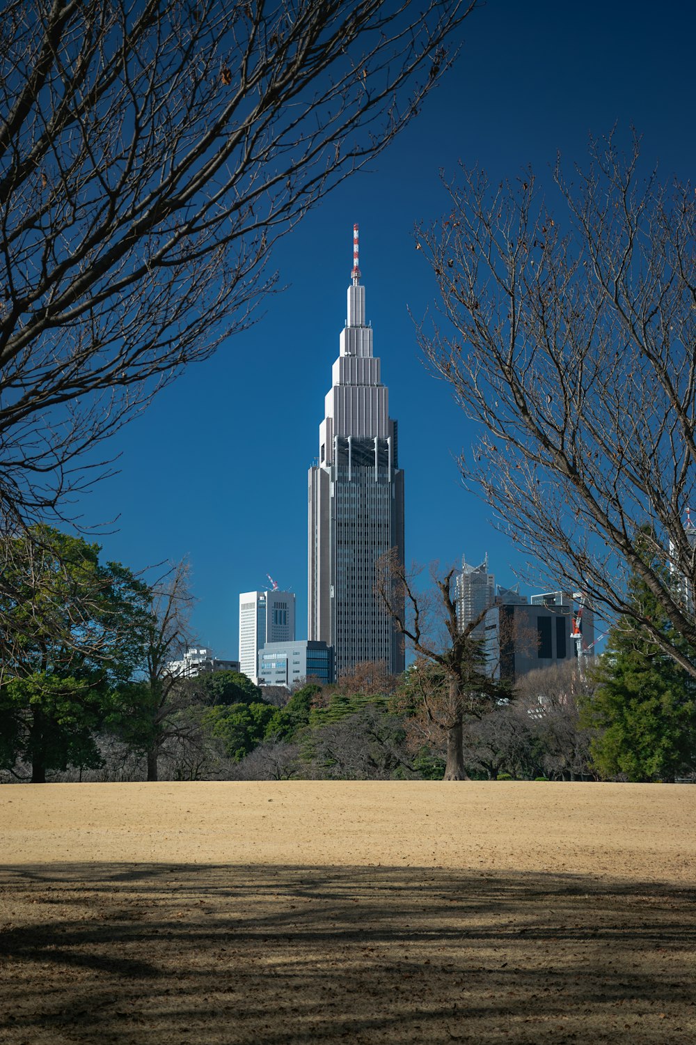
[[[474,5],[5,4],[2,528],[248,324],[272,242],[414,115]]]

